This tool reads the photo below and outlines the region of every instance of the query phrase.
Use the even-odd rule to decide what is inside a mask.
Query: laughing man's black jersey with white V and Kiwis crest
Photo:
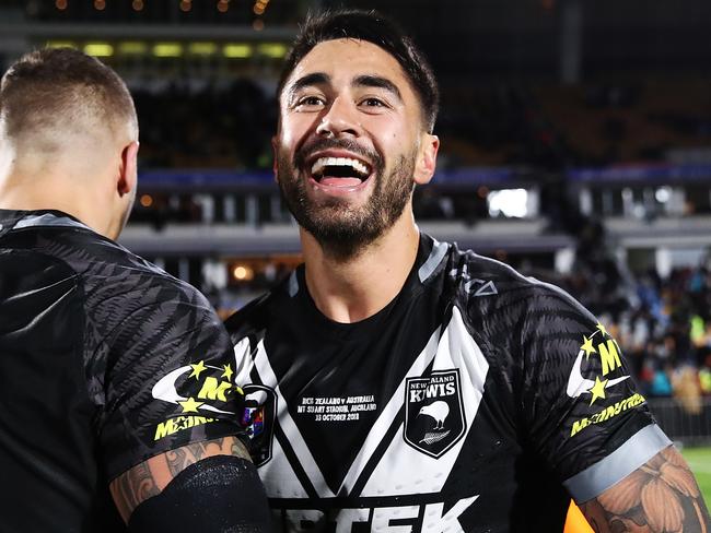
[[[569,295],[427,236],[361,322],[323,316],[301,266],[226,325],[282,531],[562,531],[571,494],[669,445]]]

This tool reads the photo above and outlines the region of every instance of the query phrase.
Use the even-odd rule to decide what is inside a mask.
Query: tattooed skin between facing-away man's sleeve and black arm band
[[[141,502],[161,490],[183,470],[212,455],[235,455],[250,461],[236,437],[195,442],[167,451],[133,466],[110,484],[110,493],[125,522]]]

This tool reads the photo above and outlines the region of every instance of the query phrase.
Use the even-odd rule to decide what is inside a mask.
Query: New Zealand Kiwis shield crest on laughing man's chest
[[[408,378],[405,394],[405,441],[427,455],[442,457],[466,429],[459,371]]]

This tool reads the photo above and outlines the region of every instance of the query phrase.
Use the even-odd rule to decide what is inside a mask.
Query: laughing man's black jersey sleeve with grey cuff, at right
[[[563,291],[544,284],[529,288],[525,313],[526,438],[571,495],[585,501],[669,441],[605,324]]]

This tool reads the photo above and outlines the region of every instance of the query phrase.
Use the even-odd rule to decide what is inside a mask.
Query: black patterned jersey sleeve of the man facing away
[[[109,478],[190,442],[242,436],[232,344],[207,299],[162,272],[120,271],[106,284],[91,292],[88,329]]]

